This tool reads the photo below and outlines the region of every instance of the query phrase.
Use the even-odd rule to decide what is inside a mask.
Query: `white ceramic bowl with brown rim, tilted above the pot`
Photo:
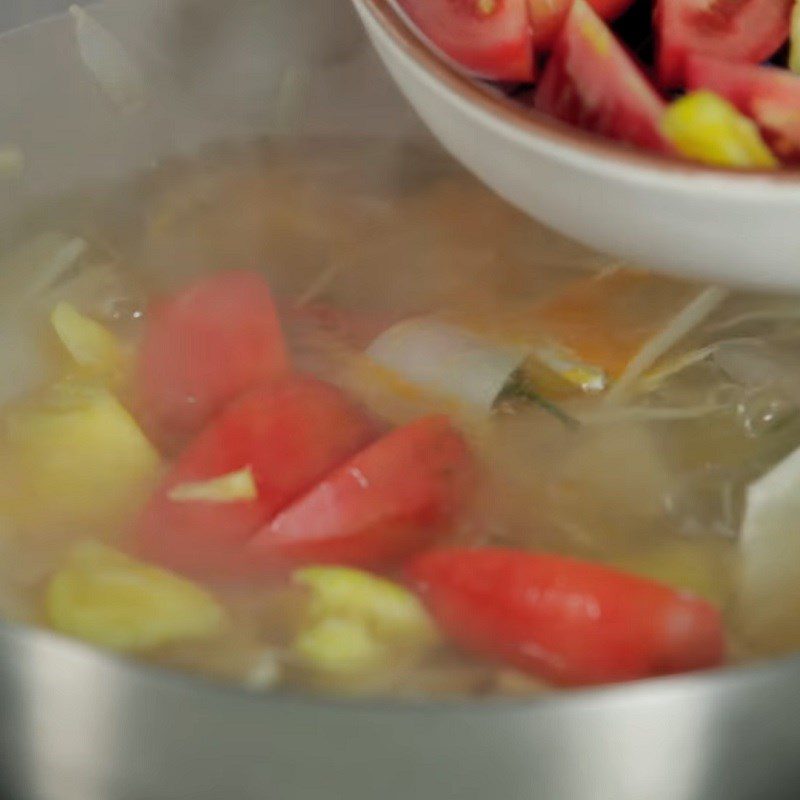
[[[522,108],[423,45],[390,0],[353,0],[442,144],[506,200],[591,247],[696,278],[800,290],[800,173],[708,168]]]

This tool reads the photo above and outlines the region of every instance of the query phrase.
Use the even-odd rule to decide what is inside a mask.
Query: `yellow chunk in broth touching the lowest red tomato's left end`
[[[294,649],[309,668],[346,678],[415,659],[437,641],[417,598],[397,584],[345,567],[308,567],[310,591]]]

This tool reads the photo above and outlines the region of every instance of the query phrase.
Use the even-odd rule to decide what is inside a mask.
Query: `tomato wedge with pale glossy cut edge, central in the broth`
[[[379,439],[263,528],[265,564],[388,566],[445,533],[474,477],[467,444],[443,416]]]

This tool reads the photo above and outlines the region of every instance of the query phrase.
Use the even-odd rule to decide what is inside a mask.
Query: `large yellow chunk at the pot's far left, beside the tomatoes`
[[[17,477],[16,512],[32,526],[124,520],[144,500],[159,456],[105,387],[66,379],[6,420]]]

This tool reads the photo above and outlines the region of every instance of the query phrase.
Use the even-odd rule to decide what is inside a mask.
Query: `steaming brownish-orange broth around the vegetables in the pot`
[[[74,258],[64,255],[70,242]],[[15,420],[32,407],[40,413],[43,387],[74,371],[50,325],[53,308],[70,303],[134,353],[151,298],[205,273],[248,269],[269,281],[298,368],[342,387],[387,424],[441,412],[462,431],[481,480],[448,542],[573,556],[694,593],[721,610],[729,661],[800,646],[800,583],[780,598],[743,588],[750,551],[741,544],[747,486],[800,445],[800,305],[791,298],[720,295],[611,402],[642,345],[706,287],[631,273],[611,279],[598,300],[591,282],[608,281],[619,265],[518,214],[438,151],[371,140],[219,148],[37,211],[7,252],[6,619],[52,624],[48,583],[76,542],[130,551],[140,508],[170,460],[124,502],[115,492],[107,502],[102,482],[96,496],[70,499],[69,486],[48,483],[38,463],[21,464]],[[584,288],[573,296],[574,286]],[[430,315],[525,350],[525,391],[476,409],[458,391],[387,379],[365,356],[382,331]],[[747,347],[761,360],[748,359]],[[563,365],[565,353],[579,351]],[[686,354],[696,356],[682,363]],[[600,361],[602,369],[588,369]],[[135,415],[131,375],[113,391]],[[53,440],[58,448],[71,457],[67,440]],[[425,697],[549,688],[445,641],[355,676],[321,673],[294,647],[306,589],[277,578],[206,587],[224,608],[220,632],[137,657],[256,690]]]

